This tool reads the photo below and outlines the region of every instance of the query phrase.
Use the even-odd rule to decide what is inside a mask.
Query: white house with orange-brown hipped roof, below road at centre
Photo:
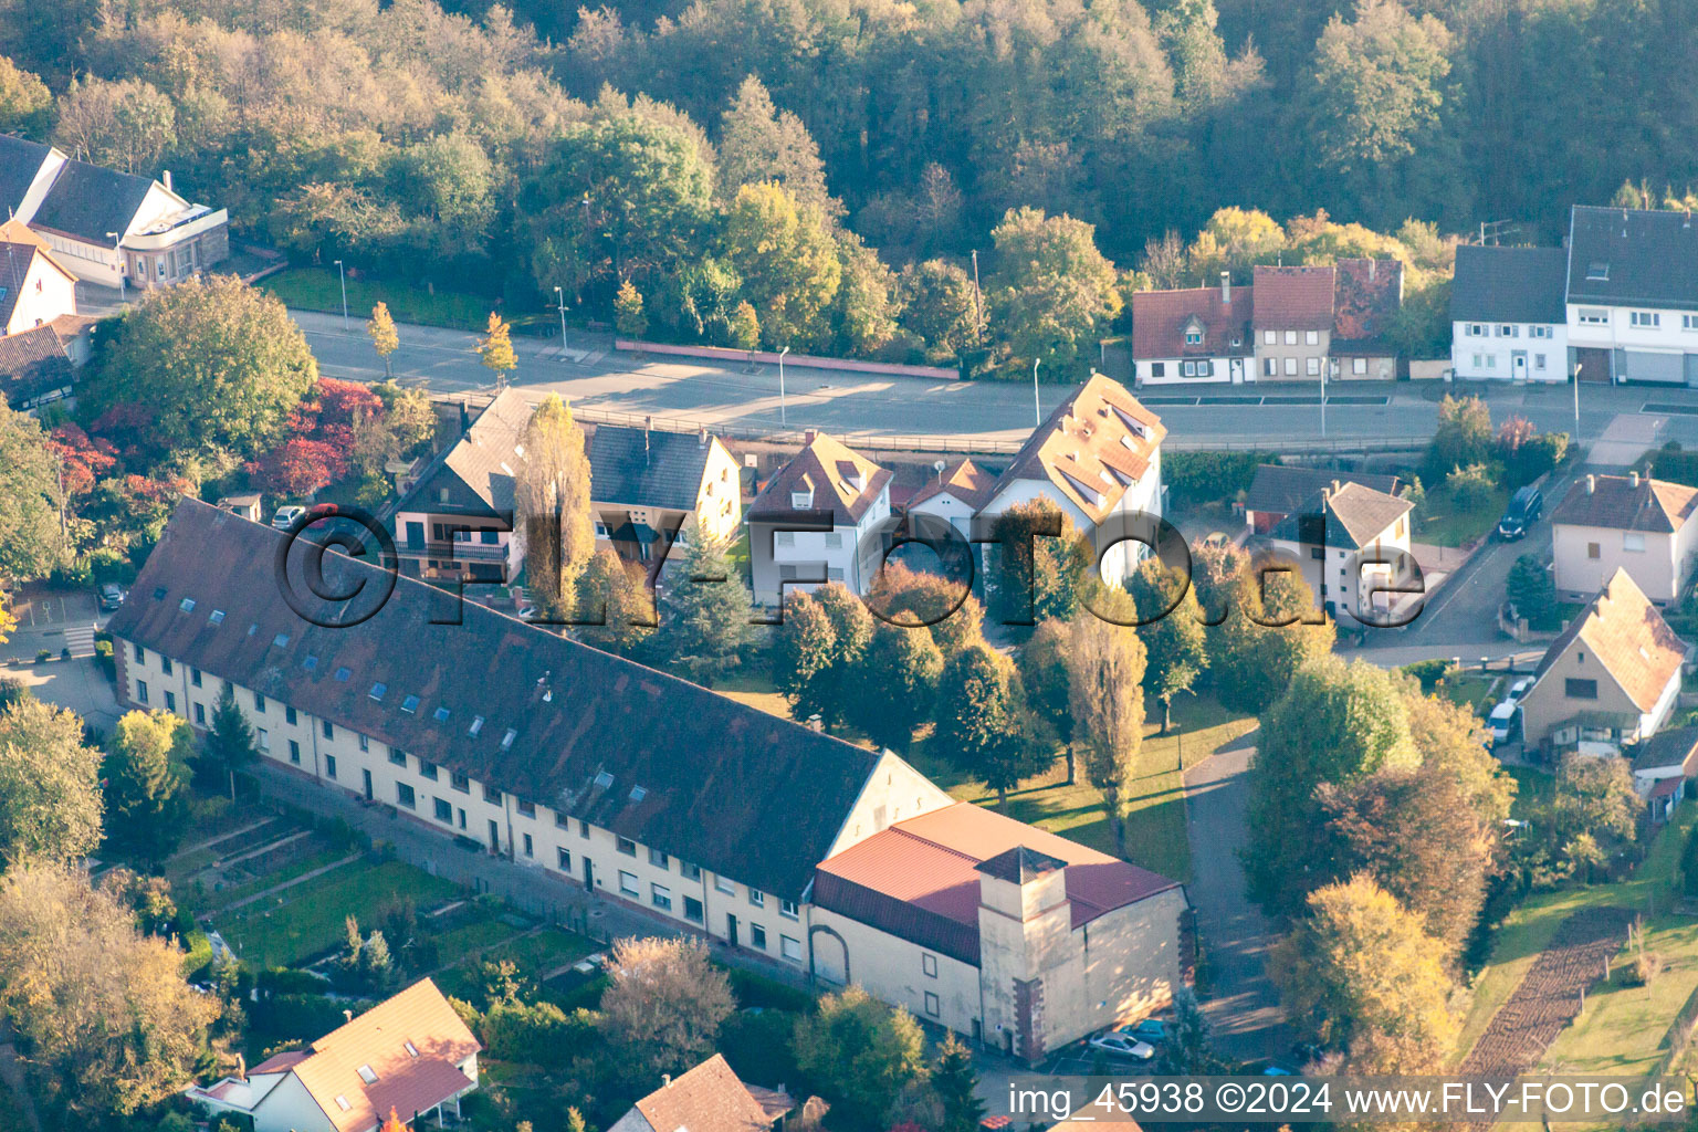
[[[890,479],[888,468],[808,429],[801,451],[749,506],[754,599],[776,606],[786,589],[822,582],[864,594],[885,560]]]

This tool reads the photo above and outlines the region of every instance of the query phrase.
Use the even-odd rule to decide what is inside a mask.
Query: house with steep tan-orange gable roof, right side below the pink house
[[[1547,750],[1649,738],[1674,708],[1684,658],[1686,643],[1616,569],[1545,650],[1521,698],[1521,733]]]

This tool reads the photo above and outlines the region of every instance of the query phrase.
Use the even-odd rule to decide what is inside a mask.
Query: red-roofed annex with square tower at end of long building
[[[1168,1005],[1189,906],[1178,881],[956,803],[820,862],[815,974],[1036,1062]]]

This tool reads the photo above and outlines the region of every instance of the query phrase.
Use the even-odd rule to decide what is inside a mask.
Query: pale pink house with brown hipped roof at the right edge
[[[1627,570],[1666,606],[1691,579],[1698,553],[1698,487],[1639,472],[1588,475],[1550,513],[1557,594],[1577,601]]]

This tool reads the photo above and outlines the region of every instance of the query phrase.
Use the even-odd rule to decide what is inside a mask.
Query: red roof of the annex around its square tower
[[[898,821],[820,862],[813,903],[976,964],[980,864],[1022,847],[1066,862],[1073,927],[1178,888],[1178,881],[1078,842],[956,803]]]

